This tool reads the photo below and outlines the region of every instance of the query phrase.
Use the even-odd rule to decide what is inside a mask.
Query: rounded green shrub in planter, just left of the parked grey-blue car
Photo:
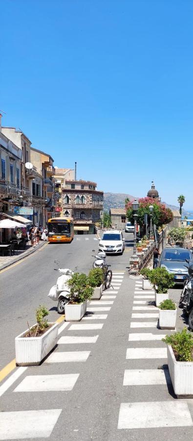
[[[170,274],[165,268],[150,270],[148,280],[159,294],[166,294],[169,288],[172,288],[174,285],[173,274]]]

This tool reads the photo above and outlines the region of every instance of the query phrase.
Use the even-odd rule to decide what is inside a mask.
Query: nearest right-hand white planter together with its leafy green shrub
[[[193,335],[184,328],[162,339],[168,344],[168,367],[177,397],[193,397]]]

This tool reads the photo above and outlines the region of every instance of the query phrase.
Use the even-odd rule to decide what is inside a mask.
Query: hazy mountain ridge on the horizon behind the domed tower
[[[104,210],[109,211],[110,208],[124,208],[125,207],[125,199],[129,197],[129,200],[138,199],[136,196],[127,195],[126,193],[104,193]],[[163,202],[166,207],[171,208],[171,210],[178,210],[179,205],[171,205],[167,202]],[[189,213],[182,208],[182,214],[187,216]]]

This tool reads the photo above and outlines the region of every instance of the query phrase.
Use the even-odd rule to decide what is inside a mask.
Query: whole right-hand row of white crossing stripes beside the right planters
[[[153,292],[144,291],[142,282],[137,281],[135,283],[132,311],[140,312],[131,313],[129,347],[126,349],[128,366],[123,374],[123,388],[128,388],[128,396],[130,396],[129,390],[132,390],[130,388],[133,386],[139,388],[139,395],[137,396],[140,396],[141,401],[132,402],[130,400],[120,404],[118,430],[154,427],[161,429],[163,427],[193,425],[186,401],[175,400],[171,395],[169,395],[167,401],[157,400],[156,390],[153,392],[153,389],[151,396],[154,396],[155,399],[152,401],[146,399],[147,389],[145,386],[149,388],[160,386],[165,388],[166,393],[167,387],[172,387],[169,369],[166,366],[167,348],[161,342],[165,334],[157,327],[159,314],[158,308],[154,306],[153,299]],[[139,319],[140,321],[137,321]],[[141,328],[139,332],[137,332],[137,328]],[[154,329],[151,331],[150,328]],[[172,332],[174,331],[167,331],[167,333]],[[137,368],[133,369],[133,363]],[[129,433],[127,432],[126,438],[128,437]]]

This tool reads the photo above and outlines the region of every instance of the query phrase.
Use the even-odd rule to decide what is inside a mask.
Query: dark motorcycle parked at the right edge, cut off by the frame
[[[186,283],[182,290],[179,308],[183,309],[183,312],[189,316],[188,323],[190,328],[193,330],[193,264],[186,259],[189,276],[186,279]]]

